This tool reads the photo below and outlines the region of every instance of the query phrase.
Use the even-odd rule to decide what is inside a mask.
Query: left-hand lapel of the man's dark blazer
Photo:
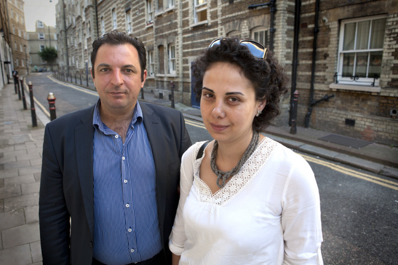
[[[75,129],[77,172],[92,239],[94,238],[93,113],[94,107],[82,117],[82,124]]]

